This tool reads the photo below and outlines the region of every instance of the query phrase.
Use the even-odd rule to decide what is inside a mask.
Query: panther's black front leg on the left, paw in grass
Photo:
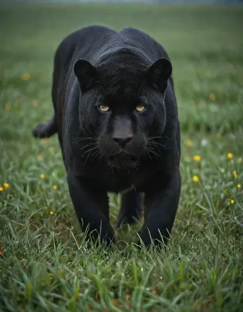
[[[109,223],[109,200],[105,190],[95,189],[92,182],[67,174],[68,187],[72,203],[83,230],[88,227],[95,238],[108,244],[114,242],[114,230]]]

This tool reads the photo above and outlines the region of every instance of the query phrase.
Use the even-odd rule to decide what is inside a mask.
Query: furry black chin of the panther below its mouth
[[[133,170],[138,167],[138,158],[126,152],[120,152],[110,156],[107,159],[107,163],[111,169],[129,173],[131,169]]]

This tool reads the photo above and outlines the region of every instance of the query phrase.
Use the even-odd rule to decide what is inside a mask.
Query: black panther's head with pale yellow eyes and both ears
[[[165,91],[172,73],[168,59],[146,64],[123,49],[96,66],[79,59],[74,72],[81,90],[80,127],[94,138],[110,167],[128,170],[158,154],[158,145],[151,142],[166,125]]]

